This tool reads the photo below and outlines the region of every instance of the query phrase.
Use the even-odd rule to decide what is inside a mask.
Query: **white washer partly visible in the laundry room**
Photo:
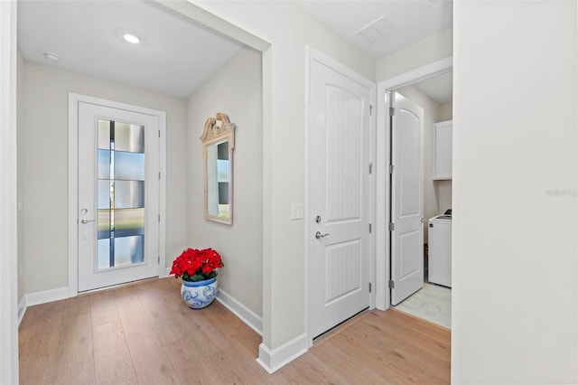
[[[452,209],[428,221],[428,281],[452,287]]]

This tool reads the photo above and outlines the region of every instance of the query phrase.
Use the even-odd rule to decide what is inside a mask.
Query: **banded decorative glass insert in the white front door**
[[[97,270],[144,262],[144,126],[98,119]]]

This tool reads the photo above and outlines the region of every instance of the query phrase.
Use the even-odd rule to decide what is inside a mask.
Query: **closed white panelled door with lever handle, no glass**
[[[310,61],[312,337],[370,303],[371,91],[350,71]]]

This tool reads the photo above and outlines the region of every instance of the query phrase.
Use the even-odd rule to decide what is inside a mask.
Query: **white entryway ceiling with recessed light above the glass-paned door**
[[[126,42],[123,33],[141,42]],[[178,98],[191,95],[242,47],[152,2],[85,0],[19,2],[18,45],[28,61]],[[59,60],[47,60],[44,52]]]

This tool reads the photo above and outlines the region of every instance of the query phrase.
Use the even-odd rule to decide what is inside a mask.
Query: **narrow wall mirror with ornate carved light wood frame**
[[[205,123],[200,141],[205,159],[205,218],[233,223],[235,124],[219,112]]]

